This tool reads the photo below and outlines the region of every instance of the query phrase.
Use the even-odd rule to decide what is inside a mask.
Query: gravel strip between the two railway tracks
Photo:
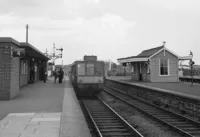
[[[123,102],[114,99],[105,92],[99,94],[99,97],[108,103],[116,112],[118,112],[125,120],[127,120],[134,128],[136,128],[145,137],[179,137],[175,132],[167,131],[166,127],[157,122],[148,119],[140,114],[137,110],[130,108]]]

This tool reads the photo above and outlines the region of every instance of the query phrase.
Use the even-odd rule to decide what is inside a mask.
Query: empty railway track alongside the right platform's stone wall
[[[150,104],[144,100],[127,94],[123,90],[116,89],[109,85],[105,85],[104,91],[150,116],[154,120],[170,127],[181,134],[181,136],[200,137],[199,122]]]

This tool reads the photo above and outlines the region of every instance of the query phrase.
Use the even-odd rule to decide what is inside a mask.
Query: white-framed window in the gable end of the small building
[[[169,60],[160,59],[160,75],[166,76],[169,75]]]

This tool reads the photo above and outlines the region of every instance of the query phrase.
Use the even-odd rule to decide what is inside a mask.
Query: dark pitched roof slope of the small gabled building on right
[[[131,57],[126,57],[126,58],[119,58],[118,60],[130,59],[130,58],[148,58],[148,57],[152,56],[153,54],[155,54],[156,52],[158,52],[159,50],[161,50],[162,48],[164,48],[164,46],[159,46],[159,47],[155,47],[155,48],[143,50],[137,56],[131,56]]]

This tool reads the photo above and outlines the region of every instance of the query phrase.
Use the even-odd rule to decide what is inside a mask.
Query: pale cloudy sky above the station
[[[199,0],[0,0],[0,37],[42,52],[63,47],[64,64],[135,56],[161,46],[200,65]],[[61,59],[56,60],[60,64]]]

